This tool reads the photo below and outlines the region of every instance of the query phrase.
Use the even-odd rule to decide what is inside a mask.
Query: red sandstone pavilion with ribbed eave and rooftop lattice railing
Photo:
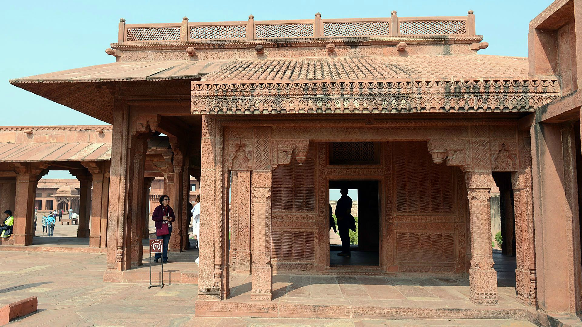
[[[581,17],[580,2],[552,3],[530,23],[528,58],[478,54],[488,44],[475,33],[472,11],[122,19],[106,51],[115,63],[10,83],[112,123],[110,165],[94,157],[70,163],[93,176],[93,193],[100,185],[93,212],[107,203],[107,235],[95,232],[107,242],[105,280],[141,265],[146,190],[156,174],[169,180],[178,215],[172,246],[185,246],[194,176],[203,217],[197,315],[417,317],[405,309],[395,316],[369,306],[277,304],[274,274],[462,276],[473,303],[463,317],[573,313],[582,310]],[[17,129],[16,140],[27,131]],[[30,244],[36,180],[51,158],[0,162],[6,187],[16,183],[15,244]],[[358,190],[359,228],[369,236],[359,247],[371,264],[334,263],[329,189],[342,187]],[[500,300],[493,268],[495,187],[509,199],[501,207],[514,230],[514,300]],[[231,273],[251,273],[250,297],[229,298]]]

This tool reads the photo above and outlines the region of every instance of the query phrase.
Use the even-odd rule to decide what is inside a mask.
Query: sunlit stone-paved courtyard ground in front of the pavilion
[[[38,311],[10,326],[533,326],[478,319],[201,318],[194,317],[196,285],[104,283],[105,254],[2,251],[0,261],[0,305],[38,297]]]

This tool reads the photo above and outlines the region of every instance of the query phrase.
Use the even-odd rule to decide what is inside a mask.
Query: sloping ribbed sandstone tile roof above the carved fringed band
[[[205,81],[489,79],[527,76],[527,58],[487,55],[237,60]]]

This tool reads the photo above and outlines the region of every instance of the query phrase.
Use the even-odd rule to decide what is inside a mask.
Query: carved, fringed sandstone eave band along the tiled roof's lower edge
[[[191,113],[535,111],[556,79],[289,81],[191,84]]]

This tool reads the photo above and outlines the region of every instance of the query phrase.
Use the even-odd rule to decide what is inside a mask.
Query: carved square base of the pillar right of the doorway
[[[489,268],[487,270],[469,269],[470,300],[477,305],[499,305],[497,296],[497,272]]]

